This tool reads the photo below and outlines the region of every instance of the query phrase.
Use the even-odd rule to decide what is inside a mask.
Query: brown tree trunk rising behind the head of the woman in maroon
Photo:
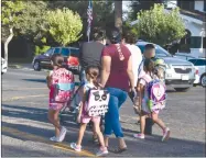
[[[115,26],[122,32],[122,0],[115,1]]]

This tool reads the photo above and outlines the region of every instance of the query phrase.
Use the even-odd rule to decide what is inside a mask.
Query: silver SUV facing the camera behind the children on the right
[[[148,42],[138,42],[137,46],[143,53]],[[176,91],[188,90],[195,81],[195,67],[187,60],[173,57],[167,50],[155,45],[156,57],[164,59],[166,64],[165,83],[174,88]]]

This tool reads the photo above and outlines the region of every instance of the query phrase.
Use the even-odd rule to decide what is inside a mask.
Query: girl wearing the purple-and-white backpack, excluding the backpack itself
[[[163,131],[162,142],[166,140],[170,137],[170,128],[165,126],[162,120],[159,119],[159,111],[151,112],[148,106],[149,94],[147,86],[153,79],[158,79],[158,76],[154,75],[154,63],[152,59],[144,60],[144,71],[145,75],[140,79],[140,93],[139,93],[139,105],[141,108],[140,115],[140,134],[134,134],[135,138],[144,139],[144,128],[145,128],[145,117],[151,115],[154,123],[156,123]]]

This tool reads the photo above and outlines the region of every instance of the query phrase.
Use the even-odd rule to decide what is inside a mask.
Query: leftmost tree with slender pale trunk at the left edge
[[[14,36],[14,27],[19,15],[25,8],[23,1],[6,1],[1,3],[2,41],[4,43],[4,59],[8,61],[8,45]]]

